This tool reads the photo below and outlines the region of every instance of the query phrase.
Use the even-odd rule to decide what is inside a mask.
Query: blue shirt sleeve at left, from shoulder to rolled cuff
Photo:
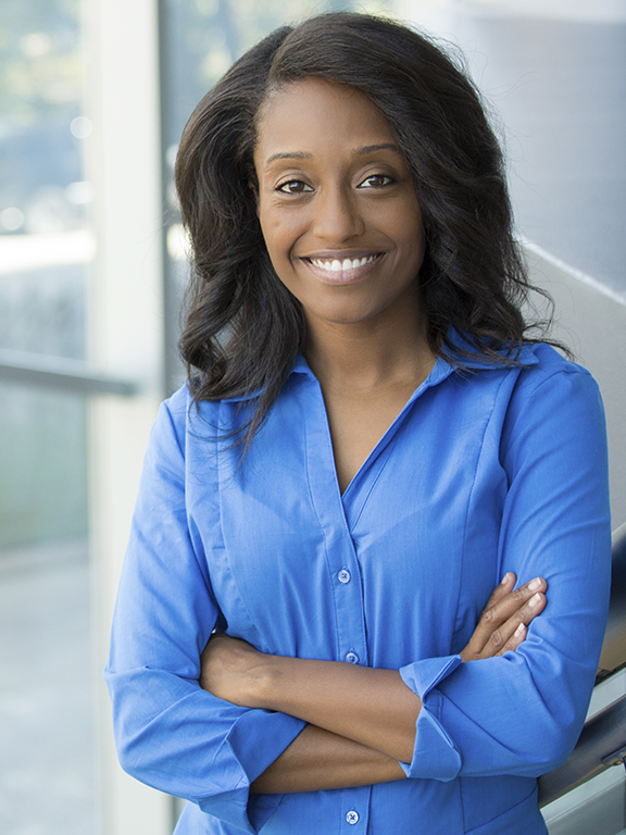
[[[184,433],[176,431],[188,406],[175,398],[151,433],[113,619],[104,675],[117,752],[137,780],[254,833],[250,784],[304,723],[239,708],[198,683],[218,609],[188,523]]]

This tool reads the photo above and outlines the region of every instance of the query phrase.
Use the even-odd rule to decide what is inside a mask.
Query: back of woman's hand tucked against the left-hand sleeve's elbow
[[[254,707],[271,658],[246,640],[215,633],[200,657],[200,686],[233,705]]]

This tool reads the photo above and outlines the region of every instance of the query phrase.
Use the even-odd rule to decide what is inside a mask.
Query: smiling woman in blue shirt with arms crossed
[[[546,832],[604,628],[605,441],[528,336],[475,91],[324,15],[234,65],[176,176],[190,381],[120,588],[122,764],[193,801],[177,833]]]

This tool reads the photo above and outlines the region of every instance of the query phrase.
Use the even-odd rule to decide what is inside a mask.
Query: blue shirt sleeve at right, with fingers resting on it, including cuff
[[[611,534],[600,394],[587,372],[568,369],[540,372],[539,384],[523,375],[499,451],[509,484],[502,573],[521,584],[544,577],[548,605],[515,652],[402,668],[423,701],[410,777],[538,776],[580,734],[606,623]]]

